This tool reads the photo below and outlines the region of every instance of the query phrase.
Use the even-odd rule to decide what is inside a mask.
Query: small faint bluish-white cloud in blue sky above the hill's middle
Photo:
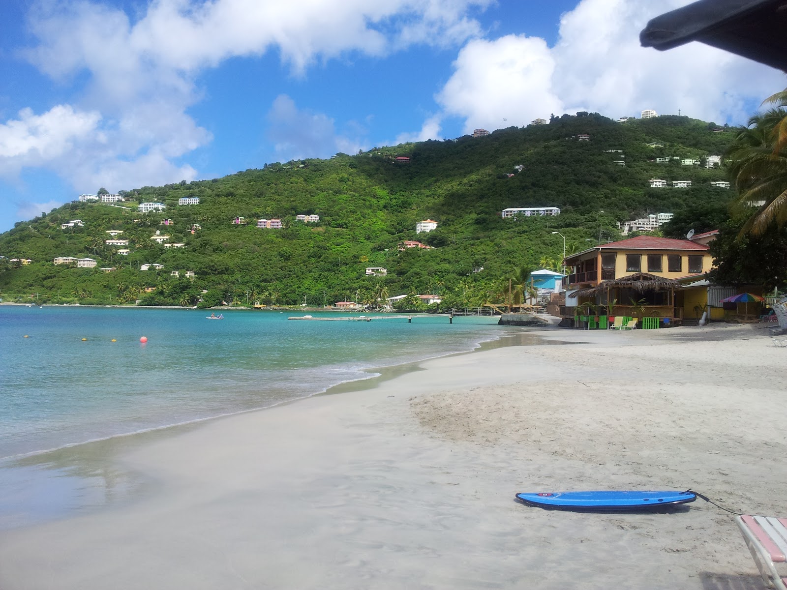
[[[337,152],[356,153],[360,138],[339,135],[334,120],[320,112],[298,109],[295,101],[280,94],[268,111],[268,137],[282,160],[329,157]]]

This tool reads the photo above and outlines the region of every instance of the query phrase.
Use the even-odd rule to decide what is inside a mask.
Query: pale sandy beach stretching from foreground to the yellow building
[[[0,588],[763,588],[733,517],[541,511],[692,488],[787,514],[787,348],[760,326],[545,333],[122,457],[131,505],[0,533]]]

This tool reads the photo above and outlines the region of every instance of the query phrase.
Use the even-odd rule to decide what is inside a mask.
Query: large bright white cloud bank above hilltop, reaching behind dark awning
[[[588,110],[634,116],[642,109],[719,123],[745,122],[784,86],[783,74],[701,43],[667,52],[639,44],[639,31],[685,0],[582,0],[563,14],[556,46],[508,35],[473,39],[436,100],[446,114],[476,127],[527,124],[550,113]]]

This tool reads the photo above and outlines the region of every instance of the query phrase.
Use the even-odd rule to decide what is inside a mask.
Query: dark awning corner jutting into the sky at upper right
[[[700,41],[787,71],[787,0],[700,0],[648,22],[642,46]]]

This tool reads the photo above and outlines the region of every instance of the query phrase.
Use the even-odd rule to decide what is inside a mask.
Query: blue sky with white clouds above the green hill
[[[0,2],[0,231],[79,194],[577,111],[744,124],[787,86],[639,32],[686,0]]]

